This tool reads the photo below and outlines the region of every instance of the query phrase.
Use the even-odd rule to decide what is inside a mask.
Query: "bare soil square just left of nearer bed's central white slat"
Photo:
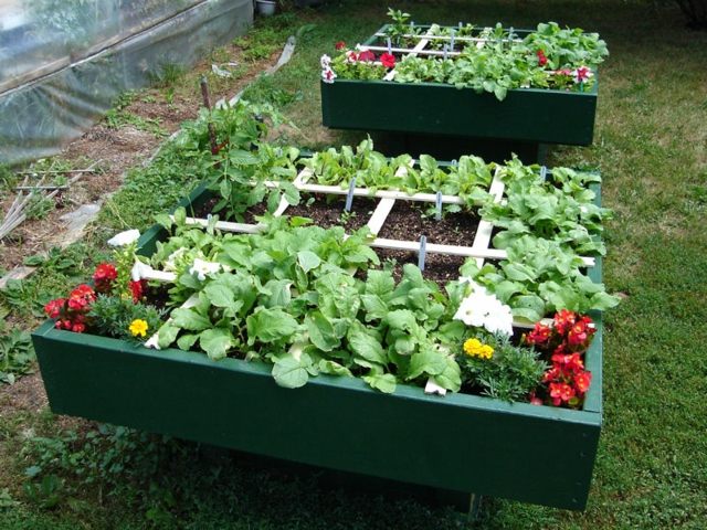
[[[314,221],[314,224],[323,229],[344,226],[348,231],[356,231],[366,226],[373,210],[376,210],[376,204],[377,201],[373,199],[355,197],[351,203],[351,212],[346,213],[344,210],[346,206],[345,197],[303,193],[299,204],[285,210],[285,215],[309,218]]]

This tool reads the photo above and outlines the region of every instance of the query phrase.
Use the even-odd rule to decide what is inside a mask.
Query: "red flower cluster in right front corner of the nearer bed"
[[[591,318],[563,309],[555,315],[551,326],[538,322],[525,337],[527,344],[551,352],[552,364],[542,383],[547,386],[546,400],[552,405],[576,409],[582,404],[592,381],[582,356],[595,331]],[[531,402],[542,404],[542,399],[534,395]]]

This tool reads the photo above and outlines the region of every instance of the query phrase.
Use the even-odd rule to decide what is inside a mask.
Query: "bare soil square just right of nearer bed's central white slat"
[[[468,212],[446,213],[437,221],[425,216],[425,206],[412,201],[397,201],[379,237],[403,241],[420,241],[444,245],[472,246],[479,219]]]

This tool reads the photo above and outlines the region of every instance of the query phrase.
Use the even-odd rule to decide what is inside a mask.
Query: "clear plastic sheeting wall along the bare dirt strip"
[[[252,0],[0,0],[0,162],[57,152],[118,94],[252,21]]]

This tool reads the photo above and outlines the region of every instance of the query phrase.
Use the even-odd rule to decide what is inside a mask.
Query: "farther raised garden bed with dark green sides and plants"
[[[542,26],[546,28],[547,24]],[[484,30],[468,31],[467,36],[457,36],[455,47],[447,52],[440,50],[440,43],[444,42],[445,46],[452,45],[454,39],[450,40],[450,34],[455,31],[458,35],[465,34],[461,23],[458,29],[437,25],[410,28],[410,34],[405,34],[395,28],[395,24],[386,24],[360,46],[373,55],[394,57],[394,65],[389,66],[387,71],[381,62],[371,61],[373,67],[381,68],[382,75],[361,75],[361,70],[355,71],[354,67],[345,71],[349,68],[350,63],[344,65],[336,59],[330,62],[330,66],[325,67],[321,82],[321,116],[325,126],[367,131],[513,140],[516,142],[514,149],[517,148],[518,141],[580,146],[592,142],[599,91],[599,82],[594,74],[591,74],[591,83],[587,83],[587,86],[581,84],[581,89],[568,89],[566,85],[560,85],[559,88],[534,87],[534,84],[530,84],[530,87],[508,89],[506,85],[513,86],[510,78],[507,78],[503,87],[496,84],[496,80],[483,83],[479,81],[477,86],[468,78],[450,75],[450,68],[454,67],[451,65],[442,68],[441,72],[444,73],[440,74],[429,73],[431,68],[421,67],[420,77],[412,82],[407,78],[410,75],[400,73],[405,64],[421,59],[457,64],[455,61],[464,60],[464,54],[476,53],[475,50],[483,51],[484,46],[496,46],[502,42],[507,42],[507,46],[523,43],[524,40],[520,38],[526,38],[530,31],[497,28],[494,35],[486,36]],[[397,33],[402,36],[393,36],[391,44],[390,35]],[[546,42],[542,39],[545,33],[538,41],[529,44],[531,55],[536,53],[536,47],[538,52],[542,50],[541,46]],[[548,57],[542,55],[544,65],[548,60],[555,62],[549,46],[545,47]],[[412,59],[407,63],[407,57]],[[566,72],[561,70],[564,68],[564,56],[558,53],[557,57],[558,65],[555,67],[560,68],[557,72]],[[342,73],[327,78],[327,68],[333,68],[335,74],[337,70]],[[545,68],[549,70],[549,65]],[[407,77],[404,82],[400,82],[403,75]],[[445,75],[452,81],[440,82],[431,78]],[[531,80],[532,75],[529,74],[528,78]],[[552,80],[552,76],[549,78]],[[564,78],[569,78],[569,74]],[[552,83],[550,81],[550,86],[553,86]],[[469,84],[473,87],[469,87]],[[499,96],[503,96],[503,100],[499,100]]]

